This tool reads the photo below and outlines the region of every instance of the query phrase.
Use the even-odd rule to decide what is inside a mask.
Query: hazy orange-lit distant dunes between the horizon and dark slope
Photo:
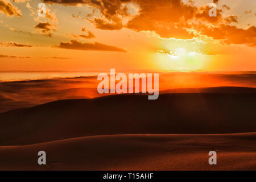
[[[129,73],[134,72],[137,71],[130,71]],[[44,77],[46,76],[45,74],[47,75],[47,72],[27,73],[25,75],[32,76],[35,79],[38,76]],[[64,73],[60,73],[60,75],[62,74]],[[2,76],[4,75],[5,73]],[[17,76],[11,72],[10,75],[15,78]],[[10,78],[9,76],[4,77],[4,80]],[[22,107],[46,104],[57,100],[96,98],[107,95],[97,92],[99,82],[97,76],[52,78],[52,75],[48,76],[48,78],[39,78],[39,80],[0,81],[0,113]],[[159,71],[159,90],[161,93],[233,93],[237,92],[237,90],[239,90],[238,92],[251,92],[250,88],[254,88],[254,90],[256,88],[256,72]]]

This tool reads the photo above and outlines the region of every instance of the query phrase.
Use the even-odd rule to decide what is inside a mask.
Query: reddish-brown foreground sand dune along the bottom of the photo
[[[40,150],[46,166],[37,163]],[[212,150],[217,165],[208,163]],[[256,133],[102,135],[1,146],[0,163],[1,170],[255,170]]]

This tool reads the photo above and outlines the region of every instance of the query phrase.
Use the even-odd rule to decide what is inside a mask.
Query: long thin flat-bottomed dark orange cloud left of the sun
[[[108,46],[106,44],[101,44],[98,42],[95,43],[81,43],[77,40],[70,40],[70,42],[61,42],[59,48],[63,49],[75,49],[75,50],[82,50],[82,51],[118,51],[118,52],[126,52],[125,49]]]

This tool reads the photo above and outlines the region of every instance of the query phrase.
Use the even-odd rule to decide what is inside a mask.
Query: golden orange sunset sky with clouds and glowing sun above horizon
[[[255,22],[255,0],[0,0],[0,71],[256,71]]]

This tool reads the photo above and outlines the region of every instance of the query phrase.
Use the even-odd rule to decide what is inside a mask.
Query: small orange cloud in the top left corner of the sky
[[[18,7],[14,6],[9,1],[0,0],[0,12],[6,14],[7,16],[13,17],[16,16],[22,16],[22,13],[18,9]]]

